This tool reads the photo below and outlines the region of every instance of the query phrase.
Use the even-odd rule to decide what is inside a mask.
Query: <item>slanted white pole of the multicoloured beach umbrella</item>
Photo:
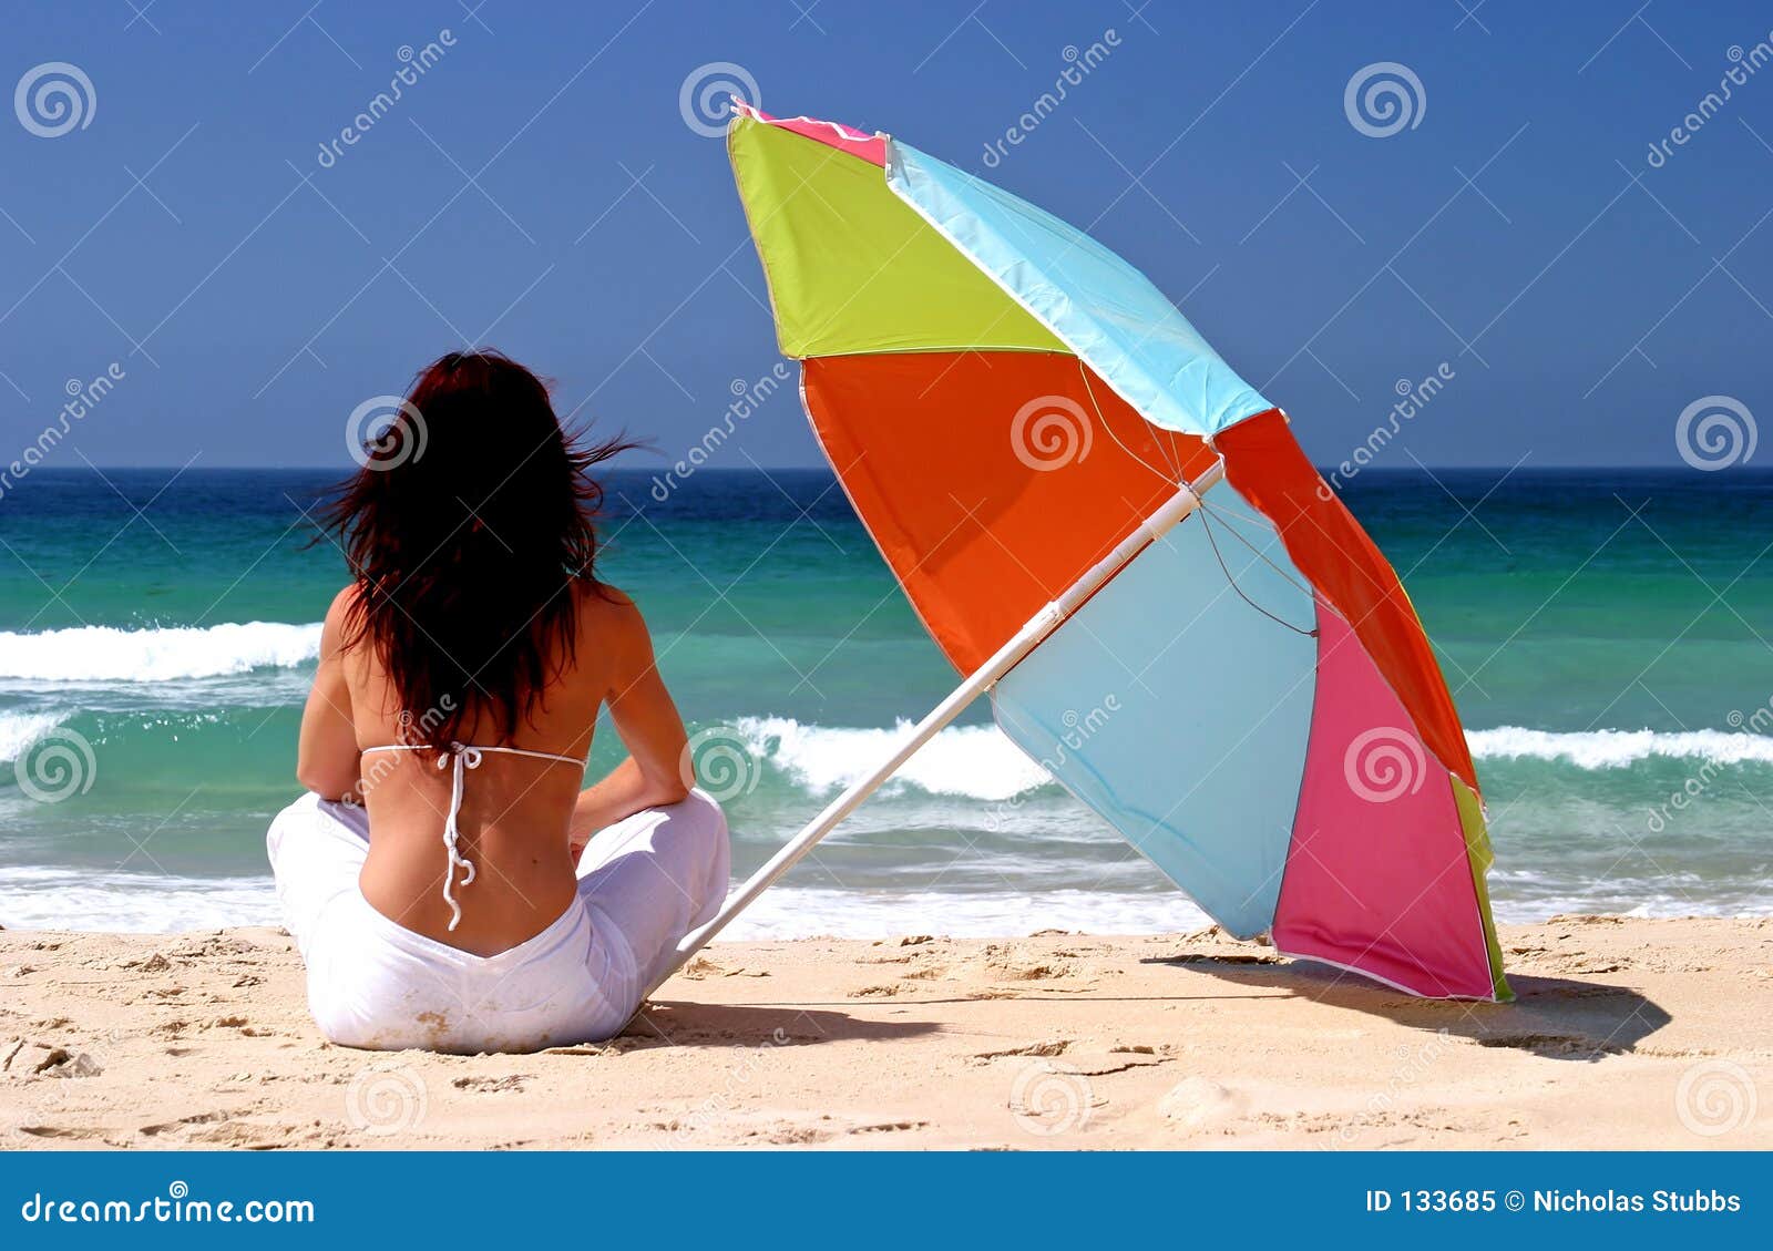
[[[858,778],[849,783],[849,787],[837,796],[830,804],[824,806],[817,817],[814,817],[807,826],[794,835],[787,843],[782,845],[769,861],[759,868],[750,879],[727,897],[720,913],[707,925],[690,930],[677,944],[677,955],[672,959],[670,966],[660,973],[658,980],[647,987],[647,996],[660,989],[672,973],[681,969],[684,962],[700,952],[707,943],[723,930],[734,916],[743,913],[752,902],[757,900],[782,874],[791,870],[801,861],[801,858],[810,852],[821,838],[824,838],[837,824],[853,813],[863,799],[867,799],[874,790],[879,789],[899,767],[917,753],[926,742],[929,742],[936,734],[947,727],[954,718],[957,718],[968,703],[977,700],[980,695],[991,689],[998,679],[1009,673],[1016,664],[1032,652],[1048,634],[1051,634],[1060,622],[1064,622],[1071,613],[1083,606],[1090,595],[1094,595],[1101,587],[1113,578],[1121,569],[1133,560],[1140,551],[1144,551],[1160,535],[1172,530],[1183,521],[1190,512],[1200,507],[1200,496],[1207,487],[1220,482],[1225,477],[1223,461],[1216,462],[1211,470],[1202,473],[1193,482],[1181,484],[1181,489],[1163,503],[1156,512],[1152,512],[1145,521],[1138,524],[1133,533],[1115,544],[1115,549],[1103,556],[1096,565],[1089,569],[1078,581],[1067,587],[1058,599],[1046,604],[1041,611],[1030,617],[1021,629],[996,654],[973,670],[965,682],[961,682],[949,696],[938,703],[922,721],[911,730],[910,737],[901,742],[890,757],[881,760],[867,776]],[[645,998],[645,996],[642,996]]]

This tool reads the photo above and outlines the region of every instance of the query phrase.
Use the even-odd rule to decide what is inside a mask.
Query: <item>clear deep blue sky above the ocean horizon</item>
[[[353,408],[466,340],[681,454],[778,360],[722,144],[679,108],[730,62],[773,113],[902,135],[1089,227],[1319,462],[1445,370],[1385,464],[1677,466],[1697,399],[1773,411],[1773,66],[1649,151],[1773,21],[1635,9],[7,4],[0,85],[67,62],[90,94],[64,135],[0,113],[0,434],[34,441],[115,365],[55,464],[344,466]],[[1378,62],[1418,83],[1385,136],[1344,103]],[[722,455],[819,462],[791,392]]]

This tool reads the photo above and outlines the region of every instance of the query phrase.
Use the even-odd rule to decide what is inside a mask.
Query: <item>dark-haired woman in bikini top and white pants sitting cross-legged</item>
[[[321,1031],[353,1047],[608,1038],[720,907],[727,826],[546,386],[450,353],[330,509],[353,583],[268,836]],[[628,748],[580,790],[599,709]]]

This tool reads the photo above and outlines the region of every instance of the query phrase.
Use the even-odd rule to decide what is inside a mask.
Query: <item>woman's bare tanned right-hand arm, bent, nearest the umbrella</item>
[[[693,776],[686,776],[688,735],[654,663],[647,624],[631,599],[610,594],[613,599],[598,610],[599,643],[613,661],[605,702],[628,758],[603,781],[580,792],[571,824],[574,854],[605,826],[644,808],[674,804],[695,783]]]

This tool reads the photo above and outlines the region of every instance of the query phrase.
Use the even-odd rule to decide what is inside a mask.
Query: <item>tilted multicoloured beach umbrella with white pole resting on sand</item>
[[[989,693],[1230,934],[1511,998],[1447,682],[1285,413],[1113,252],[902,140],[736,103],[727,149],[819,445],[965,680],[681,957]]]

